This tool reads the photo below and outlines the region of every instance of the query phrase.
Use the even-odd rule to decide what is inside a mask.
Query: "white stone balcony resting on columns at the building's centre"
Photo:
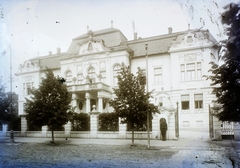
[[[87,91],[107,91],[111,92],[110,86],[98,82],[98,83],[86,83],[86,84],[71,84],[67,86],[69,92],[87,92]]]

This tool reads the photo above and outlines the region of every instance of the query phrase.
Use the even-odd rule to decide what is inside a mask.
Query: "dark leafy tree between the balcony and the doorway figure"
[[[134,130],[137,127],[146,125],[147,111],[156,112],[157,108],[150,103],[151,92],[145,92],[145,86],[141,85],[141,70],[138,70],[134,76],[130,67],[122,64],[118,75],[118,88],[113,89],[116,98],[110,101],[118,117],[121,118],[121,124],[128,124],[132,129],[132,144],[134,144]]]

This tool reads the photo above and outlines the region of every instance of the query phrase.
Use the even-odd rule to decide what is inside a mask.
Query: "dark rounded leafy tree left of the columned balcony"
[[[68,94],[63,78],[55,77],[50,69],[47,69],[45,75],[39,88],[31,90],[31,98],[26,98],[25,111],[30,124],[37,127],[47,125],[51,129],[54,143],[55,128],[66,124],[70,119],[68,110],[71,95]]]

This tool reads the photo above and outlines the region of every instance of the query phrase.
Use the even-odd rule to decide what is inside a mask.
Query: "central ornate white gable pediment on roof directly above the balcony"
[[[101,51],[108,50],[101,39],[89,37],[88,39],[78,43],[79,50],[78,54],[88,54],[88,53],[96,53]]]

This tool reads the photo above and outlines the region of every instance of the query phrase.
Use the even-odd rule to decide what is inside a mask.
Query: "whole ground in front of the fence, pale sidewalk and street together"
[[[0,167],[232,168],[225,147],[205,141],[16,138],[0,143]],[[236,167],[237,165],[235,165]]]

